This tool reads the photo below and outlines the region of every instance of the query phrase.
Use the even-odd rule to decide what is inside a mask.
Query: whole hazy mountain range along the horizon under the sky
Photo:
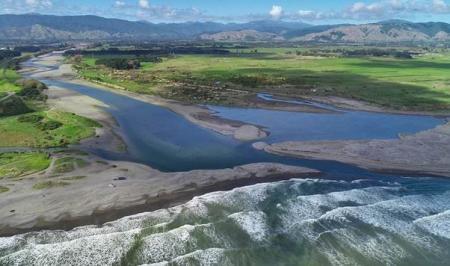
[[[150,23],[98,16],[0,15],[1,41],[209,40],[322,43],[446,42],[450,24],[390,20],[370,24],[309,25],[302,22]]]

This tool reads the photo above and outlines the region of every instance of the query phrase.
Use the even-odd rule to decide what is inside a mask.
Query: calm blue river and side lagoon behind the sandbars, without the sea
[[[166,172],[223,169],[258,162],[277,162],[311,167],[327,175],[370,175],[357,167],[314,160],[270,155],[255,150],[252,142],[241,142],[195,125],[182,116],[147,102],[108,90],[60,80],[43,80],[90,96],[109,107],[120,125],[127,153],[113,153],[101,147],[90,150],[105,159],[143,163]],[[268,143],[288,140],[345,140],[397,138],[402,133],[431,129],[444,122],[431,116],[393,115],[367,112],[312,114],[263,109],[209,106],[217,115],[257,124],[270,131]]]

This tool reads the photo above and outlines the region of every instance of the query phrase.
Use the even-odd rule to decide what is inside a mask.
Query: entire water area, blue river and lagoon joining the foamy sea
[[[448,265],[450,182],[267,155],[158,106],[49,81],[99,99],[126,133],[126,158],[165,171],[282,162],[320,169],[196,197],[184,205],[71,231],[0,238],[0,265]],[[307,114],[210,107],[266,127],[265,141],[395,138],[443,120],[365,112]]]

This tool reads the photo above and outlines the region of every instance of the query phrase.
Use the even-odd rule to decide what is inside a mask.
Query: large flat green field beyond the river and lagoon
[[[188,84],[287,96],[342,96],[398,109],[450,109],[450,54],[415,59],[304,57],[297,56],[295,50],[184,55],[134,71],[113,71],[95,66],[95,58],[85,58],[79,73],[131,91],[169,97],[191,93],[180,92],[183,86],[174,86]],[[217,84],[220,88],[214,88]]]

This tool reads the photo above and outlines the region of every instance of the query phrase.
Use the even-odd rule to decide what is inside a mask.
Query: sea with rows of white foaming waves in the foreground
[[[101,227],[0,238],[0,265],[445,265],[450,184],[293,179]]]

